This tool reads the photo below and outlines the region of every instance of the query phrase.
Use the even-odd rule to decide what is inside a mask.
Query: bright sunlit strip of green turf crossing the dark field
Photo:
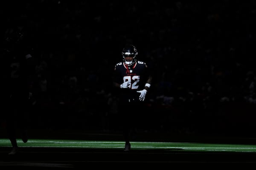
[[[58,139],[29,139],[23,143],[17,140],[20,147],[69,147],[69,148],[97,148],[122,149],[124,142],[118,141],[90,141],[90,140],[58,140]],[[256,153],[256,145],[252,144],[210,144],[193,142],[131,142],[133,150],[177,150],[180,152],[252,152]],[[0,147],[11,147],[9,139],[0,139]]]

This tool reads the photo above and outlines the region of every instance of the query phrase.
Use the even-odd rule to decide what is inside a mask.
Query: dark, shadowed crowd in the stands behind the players
[[[10,0],[0,8],[2,37],[18,29],[37,59],[31,128],[119,130],[111,73],[130,43],[154,76],[139,130],[256,136],[256,0]]]

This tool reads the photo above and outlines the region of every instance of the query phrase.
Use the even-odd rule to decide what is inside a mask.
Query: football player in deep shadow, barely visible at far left
[[[5,70],[4,84],[6,111],[6,130],[12,144],[12,151],[9,155],[14,155],[18,151],[16,131],[21,132],[24,143],[27,142],[27,127],[29,115],[29,99],[32,96],[32,87],[35,73],[35,60],[31,55],[30,48],[27,48],[23,39],[23,34],[15,29],[9,29],[6,34],[5,48],[3,49],[3,59]]]

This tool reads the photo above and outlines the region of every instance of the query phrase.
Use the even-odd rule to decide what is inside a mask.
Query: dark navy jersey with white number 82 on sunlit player
[[[113,81],[119,84],[130,81],[129,88],[124,88],[119,92],[121,99],[139,100],[140,93],[150,76],[148,66],[145,62],[137,61],[133,66],[127,66],[124,62],[119,62],[114,68]]]

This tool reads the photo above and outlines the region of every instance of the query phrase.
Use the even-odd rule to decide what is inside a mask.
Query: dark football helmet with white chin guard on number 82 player
[[[123,62],[130,66],[133,65],[135,62],[137,62],[137,49],[134,45],[127,45],[125,48],[123,48],[122,51],[122,57],[123,57]],[[133,57],[131,60],[126,60],[125,57]]]

